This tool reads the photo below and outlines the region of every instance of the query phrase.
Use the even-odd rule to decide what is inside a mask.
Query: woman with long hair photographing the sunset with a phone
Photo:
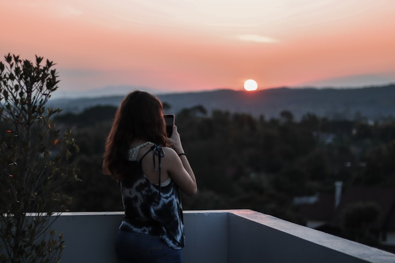
[[[163,106],[142,91],[121,102],[106,141],[103,171],[118,180],[125,217],[116,237],[119,262],[182,262],[179,189],[194,195],[194,172],[177,126],[166,137]]]

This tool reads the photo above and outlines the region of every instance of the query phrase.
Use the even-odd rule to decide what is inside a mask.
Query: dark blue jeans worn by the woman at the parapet
[[[182,250],[165,245],[158,236],[118,230],[115,250],[119,263],[181,263]]]

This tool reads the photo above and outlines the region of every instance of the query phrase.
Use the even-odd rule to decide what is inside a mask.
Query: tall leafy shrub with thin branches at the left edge
[[[62,186],[78,180],[79,148],[55,128],[45,108],[58,86],[53,63],[6,55],[0,62],[0,261],[58,262],[62,234],[51,224],[71,198]]]

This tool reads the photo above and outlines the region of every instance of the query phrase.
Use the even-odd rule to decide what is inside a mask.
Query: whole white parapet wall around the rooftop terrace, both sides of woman
[[[116,263],[114,240],[122,212],[63,213],[62,263]],[[377,262],[395,254],[252,210],[184,212],[184,263]]]

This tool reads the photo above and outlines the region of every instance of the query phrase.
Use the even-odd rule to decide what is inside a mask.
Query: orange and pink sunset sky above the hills
[[[395,82],[394,0],[1,0],[0,51],[63,95]],[[116,89],[114,89],[116,93]]]

